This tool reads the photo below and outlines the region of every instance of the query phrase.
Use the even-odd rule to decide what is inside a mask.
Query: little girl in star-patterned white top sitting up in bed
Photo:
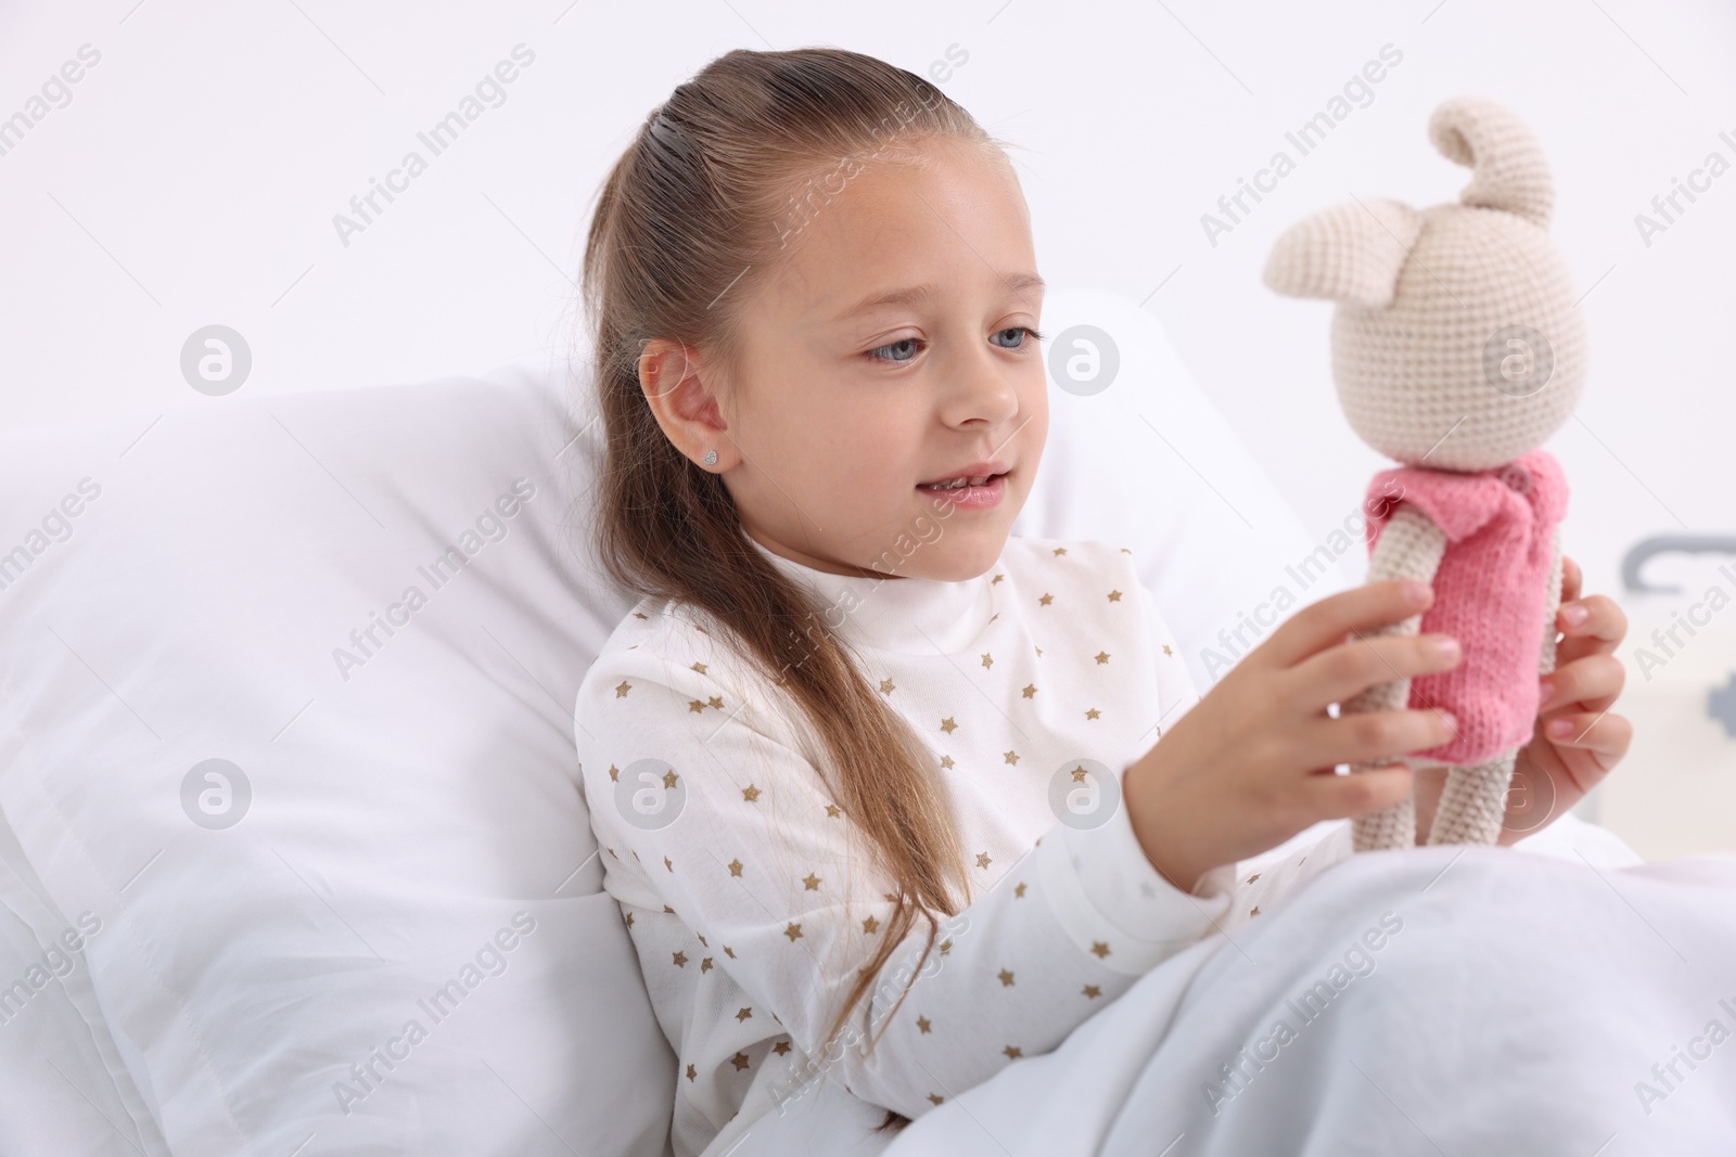
[[[1238,860],[1394,803],[1394,756],[1451,735],[1328,711],[1457,663],[1380,633],[1427,588],[1326,598],[1198,699],[1128,552],[1009,536],[1049,428],[1043,283],[1000,142],[915,75],[719,57],[615,165],[583,274],[599,553],[642,600],[578,755],[677,1055],[677,1157],[816,1081],[885,1129],[1054,1049],[1349,829]],[[1613,650],[1606,604],[1568,630]],[[1576,746],[1533,753],[1561,807],[1625,749],[1594,720],[1620,664],[1575,654],[1543,706],[1585,708]]]

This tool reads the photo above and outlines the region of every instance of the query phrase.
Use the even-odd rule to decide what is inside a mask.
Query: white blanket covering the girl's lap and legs
[[[1736,862],[1552,852],[1333,864],[891,1143],[826,1089],[734,1157],[1736,1152]]]

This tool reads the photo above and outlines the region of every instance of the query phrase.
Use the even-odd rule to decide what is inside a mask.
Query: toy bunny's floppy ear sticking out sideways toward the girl
[[[1279,234],[1266,284],[1286,297],[1385,309],[1420,232],[1422,213],[1403,201],[1333,205]]]

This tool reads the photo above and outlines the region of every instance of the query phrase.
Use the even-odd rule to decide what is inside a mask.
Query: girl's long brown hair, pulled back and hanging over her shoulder
[[[910,71],[844,49],[736,49],[639,127],[602,184],[585,246],[583,300],[608,439],[595,487],[599,559],[625,590],[708,611],[783,687],[818,734],[821,779],[896,883],[887,893],[894,918],[821,1053],[925,919],[911,980],[918,975],[936,914],[958,911],[948,885],[969,895],[963,850],[932,753],[873,690],[821,607],[760,557],[722,477],[663,435],[639,359],[646,342],[668,338],[727,366],[740,304],[776,276],[826,199],[861,165],[936,137],[976,142],[1005,161],[1003,142]],[[894,1011],[908,990],[910,980]],[[878,1128],[908,1121],[889,1110]]]

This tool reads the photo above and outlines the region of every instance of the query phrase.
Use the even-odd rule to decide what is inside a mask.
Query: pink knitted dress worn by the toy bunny
[[[1555,524],[1568,512],[1568,480],[1555,458],[1533,449],[1477,474],[1394,467],[1368,486],[1368,552],[1399,501],[1446,533],[1434,605],[1420,630],[1463,647],[1450,671],[1411,680],[1411,708],[1446,708],[1458,734],[1411,758],[1469,767],[1522,748],[1536,723],[1538,656],[1549,612]]]

